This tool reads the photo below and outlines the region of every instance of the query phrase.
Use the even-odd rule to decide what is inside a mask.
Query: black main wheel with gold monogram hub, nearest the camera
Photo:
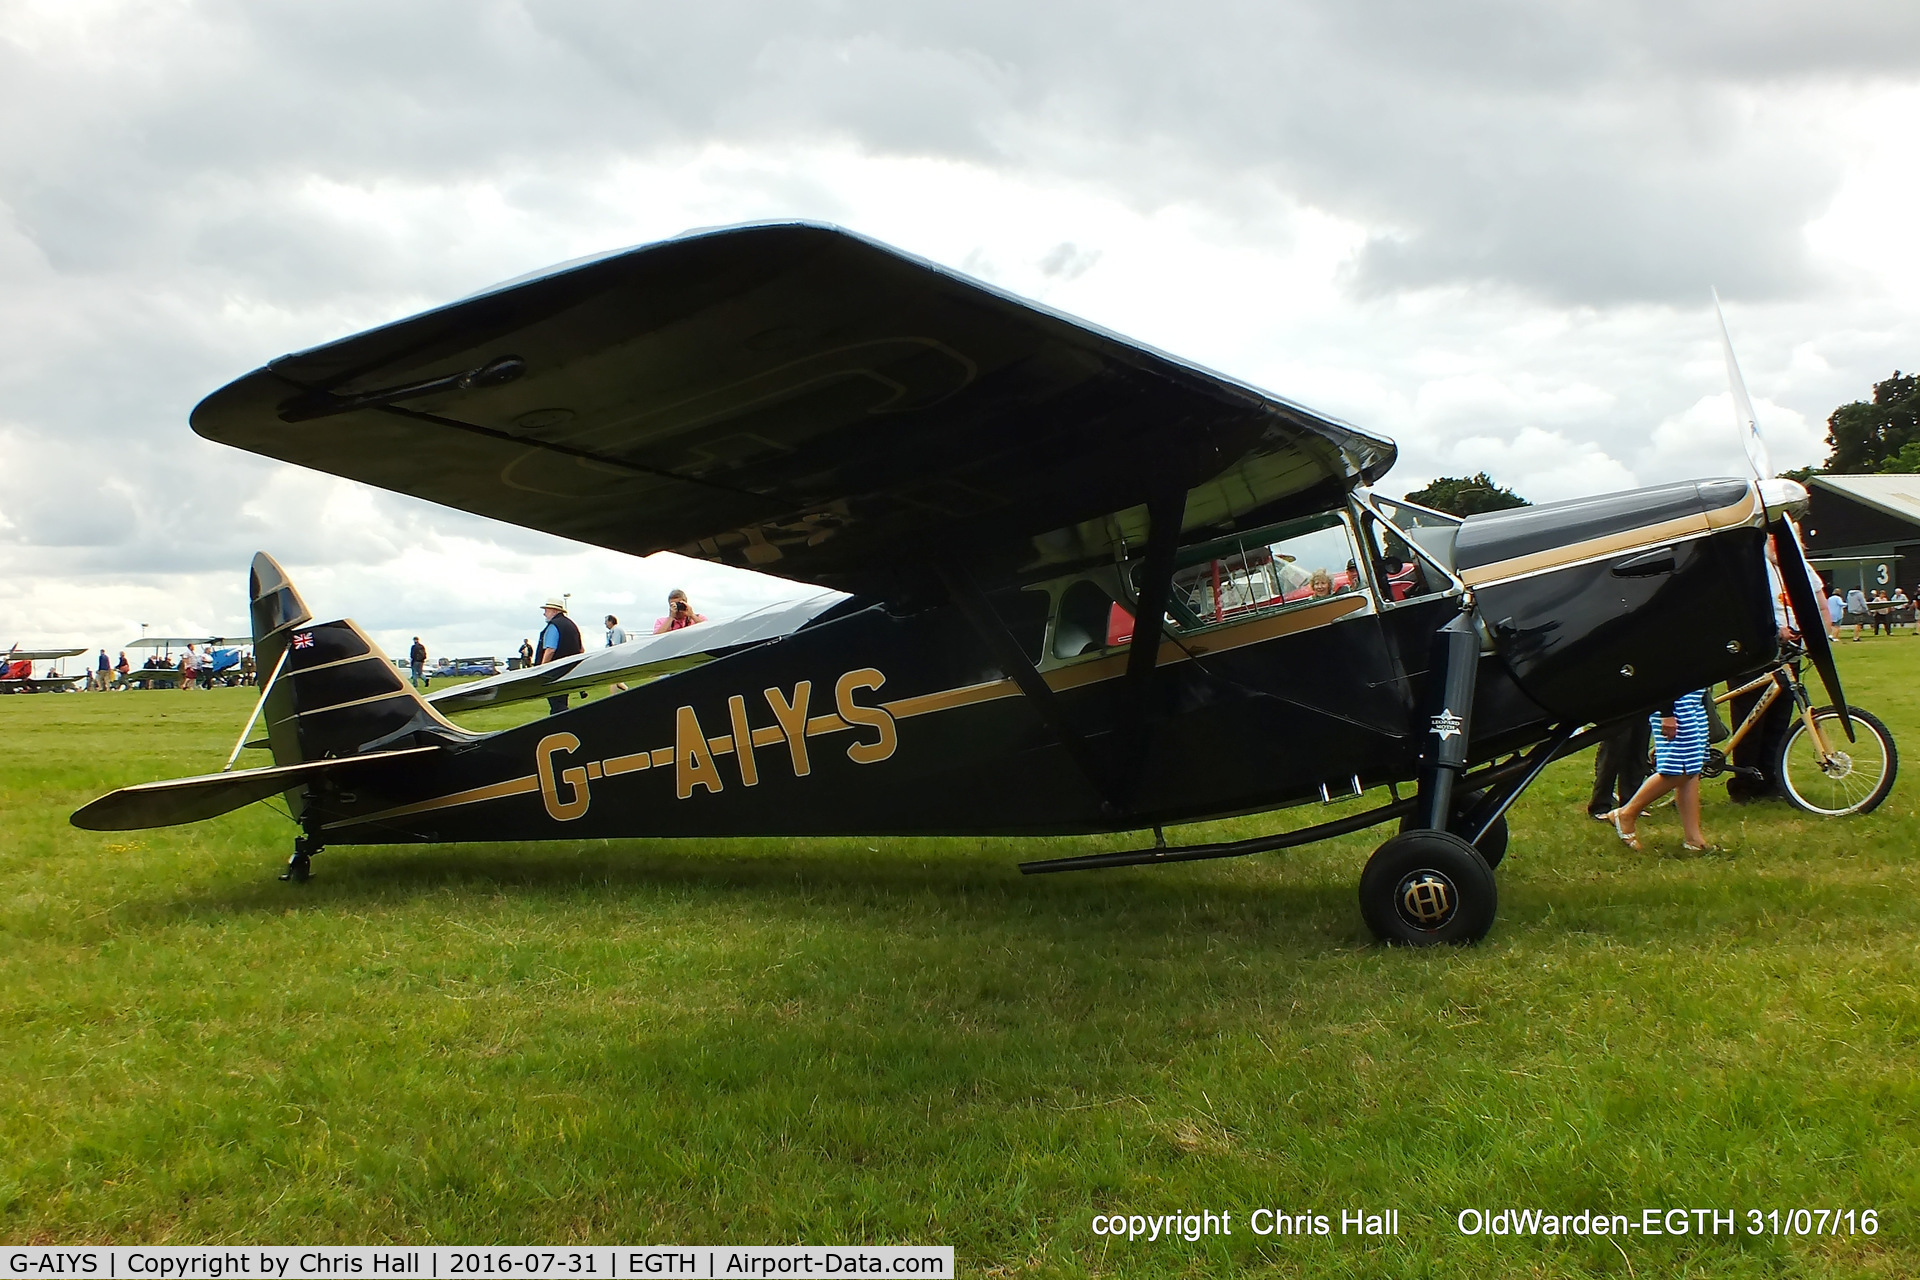
[[[1494,869],[1448,831],[1402,831],[1359,875],[1359,913],[1382,942],[1478,942],[1498,906]]]

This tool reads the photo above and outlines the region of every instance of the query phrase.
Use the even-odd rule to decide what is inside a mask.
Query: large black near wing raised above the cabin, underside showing
[[[634,555],[895,595],[1317,510],[1394,445],[851,232],[689,232],[221,388],[194,430]],[[1139,528],[1135,528],[1139,526]]]

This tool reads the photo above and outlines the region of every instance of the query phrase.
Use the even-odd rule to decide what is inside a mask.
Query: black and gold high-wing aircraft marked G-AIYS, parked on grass
[[[1069,871],[1400,823],[1359,881],[1367,925],[1475,940],[1505,810],[1588,725],[1776,658],[1770,535],[1801,616],[1818,610],[1757,476],[1455,520],[1373,493],[1384,438],[816,225],[511,282],[271,361],[192,426],[803,583],[758,629],[705,624],[430,702],[255,557],[275,766],[129,787],[73,821],[284,793],[290,879],[326,844],[1154,833],[1021,867]],[[1824,631],[1807,645],[1834,699],[1805,708],[1820,768],[1845,768]],[[712,660],[515,729],[442,714],[693,651]],[[1382,785],[1384,804],[1302,831],[1164,841]]]

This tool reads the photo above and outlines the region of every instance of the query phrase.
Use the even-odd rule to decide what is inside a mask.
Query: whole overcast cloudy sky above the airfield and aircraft
[[[841,223],[1534,501],[1776,466],[1920,365],[1912,0],[0,0],[0,645],[390,649],[783,583],[202,441],[267,359],[691,226]]]

